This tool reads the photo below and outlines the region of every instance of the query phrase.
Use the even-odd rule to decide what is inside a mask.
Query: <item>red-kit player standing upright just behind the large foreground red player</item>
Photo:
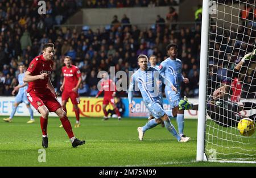
[[[76,125],[75,128],[80,127],[80,116],[79,116],[79,107],[77,106],[80,103],[79,93],[77,90],[82,81],[81,72],[78,67],[71,64],[71,57],[65,56],[64,58],[65,66],[62,68],[62,73],[64,76],[63,84],[60,86],[61,95],[61,106],[63,110],[67,113],[66,104],[68,99],[71,98],[73,104],[73,110],[76,114]],[[63,125],[60,125],[63,127]]]

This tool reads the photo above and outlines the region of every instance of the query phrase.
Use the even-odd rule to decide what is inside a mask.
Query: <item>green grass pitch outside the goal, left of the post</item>
[[[188,143],[179,143],[165,128],[148,130],[144,141],[138,140],[137,127],[147,119],[81,118],[81,127],[73,128],[77,138],[85,139],[83,146],[73,148],[60,120],[48,120],[49,147],[46,162],[38,162],[42,148],[39,118],[32,124],[28,117],[14,117],[5,123],[0,117],[0,166],[255,166],[241,163],[195,162],[197,120],[185,120]],[[75,118],[69,118],[72,127]],[[172,121],[176,127],[176,121]]]

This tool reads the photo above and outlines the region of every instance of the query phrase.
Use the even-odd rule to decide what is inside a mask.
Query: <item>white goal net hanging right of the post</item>
[[[234,71],[241,64],[242,57],[256,49],[255,2],[210,1],[212,13],[209,15],[208,101],[204,140],[208,160],[256,163],[256,133],[242,136],[236,123],[242,115],[253,118],[256,113],[253,105],[249,108],[251,103],[256,103],[256,55],[251,55],[238,71]],[[214,90],[222,86],[224,96],[217,93],[214,99]],[[247,102],[248,107],[241,110],[237,102]]]

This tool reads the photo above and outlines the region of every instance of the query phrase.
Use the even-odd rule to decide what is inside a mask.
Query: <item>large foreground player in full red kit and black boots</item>
[[[62,109],[55,90],[52,86],[49,75],[52,72],[54,45],[46,43],[43,45],[43,54],[36,56],[30,63],[25,76],[24,82],[28,82],[27,98],[32,106],[41,114],[40,124],[43,133],[42,146],[48,147],[47,123],[49,112],[55,112],[71,139],[72,146],[77,147],[85,143],[85,140],[75,138],[71,123],[65,111]]]

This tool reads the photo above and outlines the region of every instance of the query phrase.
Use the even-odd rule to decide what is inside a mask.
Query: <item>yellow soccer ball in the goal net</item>
[[[243,118],[239,121],[237,129],[243,136],[251,136],[255,132],[255,123],[249,118]]]

